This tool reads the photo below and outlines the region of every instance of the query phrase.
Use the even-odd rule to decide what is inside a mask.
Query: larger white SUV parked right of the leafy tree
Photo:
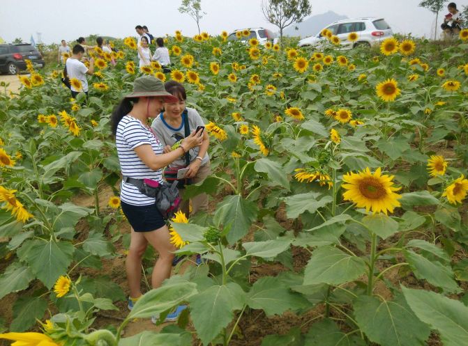
[[[375,42],[393,36],[393,31],[385,22],[384,18],[365,17],[358,19],[345,19],[333,22],[324,29],[329,29],[333,35],[340,38],[342,49],[352,49],[359,45],[371,46]],[[356,32],[358,40],[351,42],[348,40],[349,33]],[[299,47],[314,46],[320,48],[326,42],[320,33],[315,36],[309,36],[299,41]]]

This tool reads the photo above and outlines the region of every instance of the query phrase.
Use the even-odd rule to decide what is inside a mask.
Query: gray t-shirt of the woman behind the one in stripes
[[[190,127],[189,132],[192,132],[194,129],[197,128],[197,126],[205,125],[202,117],[199,115],[196,109],[188,108],[188,107],[186,109],[188,111],[187,116],[188,116],[188,127]],[[182,113],[182,116],[183,116],[183,113]],[[163,113],[160,113],[158,118],[153,120],[151,127],[153,128],[154,132],[156,132],[156,136],[159,139],[159,141],[163,144],[163,146],[174,146],[174,143],[186,137],[186,130],[183,125],[183,119],[182,119],[181,126],[177,129],[174,129],[174,127],[171,127],[169,124],[166,123],[163,117]],[[200,151],[199,147],[195,147],[188,151],[188,153],[190,154],[190,162],[193,162],[193,160],[197,159],[199,151]],[[209,160],[209,156],[208,156],[208,152],[206,152],[202,160],[202,165],[206,164],[208,160]],[[186,166],[185,155],[181,157],[180,159],[176,159],[176,161],[172,162],[170,166],[172,167]]]

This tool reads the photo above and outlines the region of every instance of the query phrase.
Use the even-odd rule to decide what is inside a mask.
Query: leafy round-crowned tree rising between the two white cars
[[[264,0],[262,12],[266,20],[280,29],[280,42],[282,31],[289,25],[300,23],[310,15],[309,0]]]

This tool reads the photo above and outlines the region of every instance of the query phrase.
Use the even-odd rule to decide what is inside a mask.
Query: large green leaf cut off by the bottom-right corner
[[[468,346],[468,307],[425,290],[402,287],[403,294],[418,318],[440,333],[444,346]]]

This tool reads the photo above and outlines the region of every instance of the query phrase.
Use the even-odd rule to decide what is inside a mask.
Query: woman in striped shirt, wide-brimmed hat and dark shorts
[[[112,132],[124,177],[144,178],[161,182],[162,168],[179,159],[188,150],[200,146],[202,137],[193,132],[184,139],[179,149],[163,154],[163,146],[147,125],[163,109],[163,101],[174,102],[176,97],[165,91],[163,82],[153,76],[135,79],[133,93],[123,98],[112,113]],[[170,243],[165,219],[155,204],[155,199],[145,196],[128,182],[121,183],[121,207],[132,226],[130,249],[126,259],[126,272],[130,298],[128,307],[142,295],[140,288],[142,256],[151,244],[158,251],[153,268],[151,285],[158,288],[169,278],[174,259],[174,245]]]

